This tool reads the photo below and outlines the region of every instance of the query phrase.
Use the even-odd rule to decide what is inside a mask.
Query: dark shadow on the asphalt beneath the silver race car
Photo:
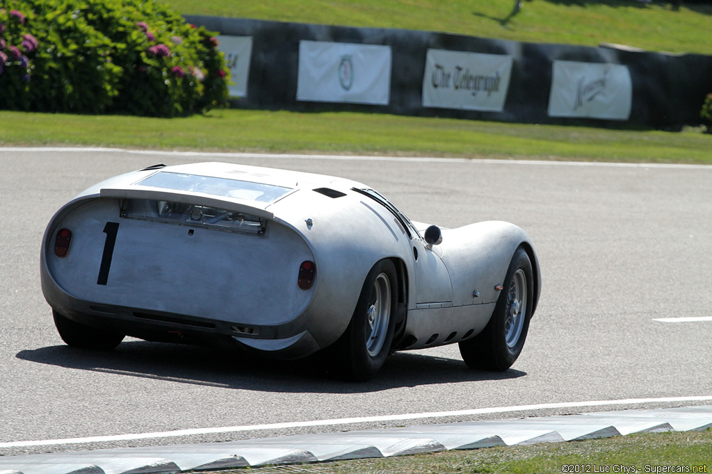
[[[459,359],[397,352],[371,381],[344,381],[318,358],[264,359],[247,352],[158,342],[125,341],[110,352],[66,345],[27,349],[18,359],[68,369],[177,381],[185,384],[288,393],[352,394],[404,386],[514,379],[525,372],[478,372]]]

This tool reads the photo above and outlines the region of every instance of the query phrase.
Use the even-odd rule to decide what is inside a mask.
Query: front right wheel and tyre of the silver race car
[[[512,367],[522,352],[529,330],[534,302],[533,282],[529,256],[523,248],[518,248],[485,329],[472,339],[459,343],[460,354],[468,367],[496,371]]]

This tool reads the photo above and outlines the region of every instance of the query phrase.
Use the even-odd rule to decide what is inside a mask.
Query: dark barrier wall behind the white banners
[[[698,125],[705,96],[712,92],[712,56],[669,55],[622,48],[519,43],[473,36],[384,28],[349,28],[214,16],[185,16],[222,35],[252,36],[248,97],[233,107],[305,112],[350,110],[423,117],[454,117],[504,122],[636,125],[677,129]],[[389,105],[357,105],[296,100],[299,42],[364,43],[392,48]],[[422,106],[423,75],[429,48],[513,56],[511,82],[502,112],[479,112]],[[612,63],[629,68],[632,109],[627,122],[550,117],[548,102],[554,60]]]

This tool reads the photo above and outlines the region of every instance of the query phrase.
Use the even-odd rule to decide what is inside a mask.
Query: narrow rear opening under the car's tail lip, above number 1
[[[259,236],[264,235],[267,227],[265,218],[242,212],[153,199],[123,200],[121,216],[142,221],[200,226],[218,231],[253,233]]]

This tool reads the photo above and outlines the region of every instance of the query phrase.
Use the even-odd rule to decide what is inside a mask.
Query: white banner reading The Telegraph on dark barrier
[[[429,49],[423,107],[501,112],[512,63],[512,56]]]

